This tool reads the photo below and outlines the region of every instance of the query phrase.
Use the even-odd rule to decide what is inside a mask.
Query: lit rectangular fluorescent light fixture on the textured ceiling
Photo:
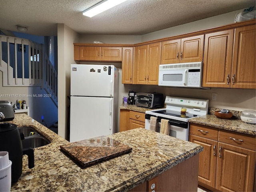
[[[126,0],[103,0],[98,4],[84,10],[83,15],[88,17],[93,17],[125,1]]]

